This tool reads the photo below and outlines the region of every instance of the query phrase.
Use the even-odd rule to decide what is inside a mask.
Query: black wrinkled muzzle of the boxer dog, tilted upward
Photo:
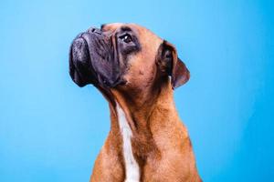
[[[115,44],[115,43],[114,43]],[[78,86],[110,88],[125,84],[116,47],[110,35],[90,28],[79,34],[69,51],[69,74]]]

